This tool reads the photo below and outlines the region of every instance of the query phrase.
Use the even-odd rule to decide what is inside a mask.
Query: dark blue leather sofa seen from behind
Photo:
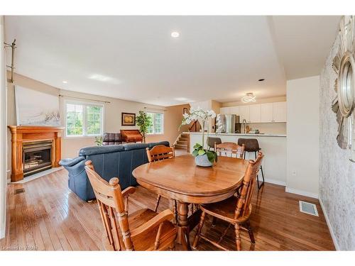
[[[68,186],[72,192],[80,199],[89,201],[95,199],[95,195],[84,169],[87,160],[92,160],[95,171],[105,180],[119,177],[119,184],[124,190],[137,184],[132,171],[148,162],[146,148],[155,145],[169,146],[169,142],[86,147],[79,151],[79,157],[60,160],[59,164],[69,172]]]

